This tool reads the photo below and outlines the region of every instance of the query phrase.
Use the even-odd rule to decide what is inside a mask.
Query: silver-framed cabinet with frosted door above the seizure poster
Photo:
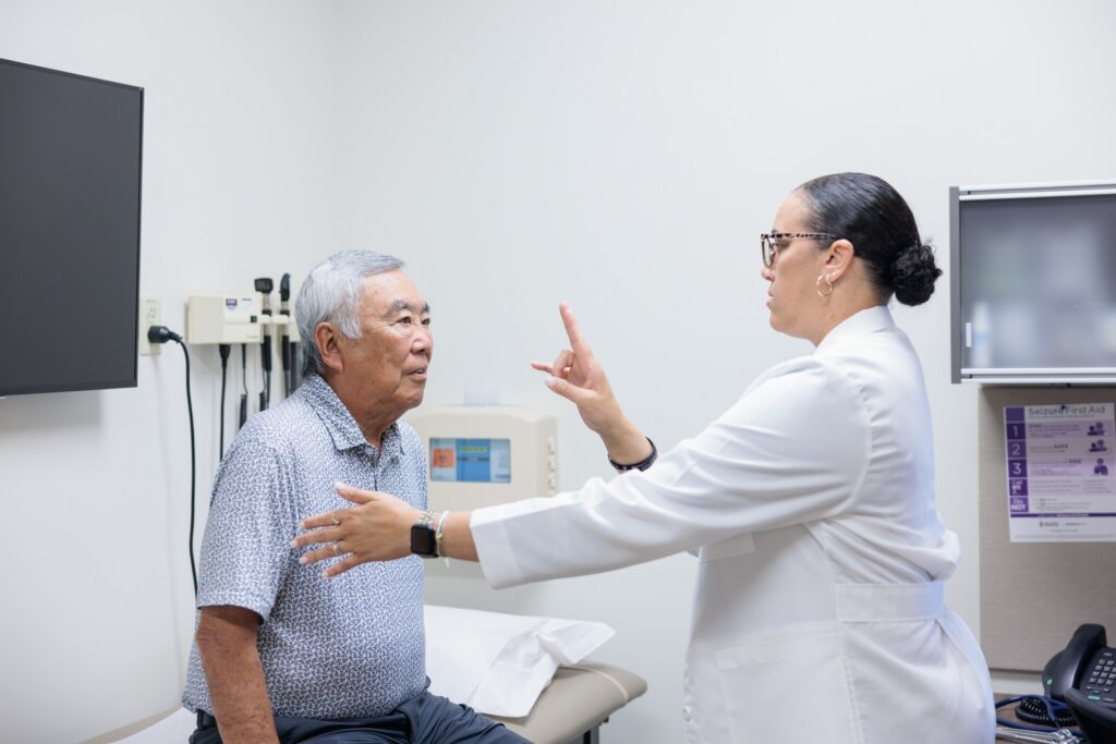
[[[951,190],[953,381],[1116,384],[1116,181]]]

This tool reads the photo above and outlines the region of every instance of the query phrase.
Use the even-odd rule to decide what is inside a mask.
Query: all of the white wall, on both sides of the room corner
[[[798,183],[883,175],[947,264],[949,185],[1116,175],[1114,27],[1103,0],[0,0],[0,57],[147,89],[141,287],[171,325],[192,291],[395,252],[434,310],[427,403],[494,381],[554,410],[574,486],[607,474],[603,453],[527,367],[564,345],[559,300],[670,446],[808,351],[767,327],[758,277],[757,233]],[[966,550],[949,598],[975,627],[975,395],[949,384],[945,287],[897,317]],[[202,514],[214,357],[194,361]],[[0,402],[0,738],[74,741],[177,698],[182,361],[140,361],[137,389]],[[432,576],[430,593],[612,624],[598,657],[651,689],[606,734],[666,743],[692,577],[673,558],[500,593]]]

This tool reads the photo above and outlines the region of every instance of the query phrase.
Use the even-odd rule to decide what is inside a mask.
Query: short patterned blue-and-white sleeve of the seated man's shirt
[[[237,442],[213,484],[202,540],[198,607],[232,605],[267,619],[296,532],[290,468],[272,448]]]

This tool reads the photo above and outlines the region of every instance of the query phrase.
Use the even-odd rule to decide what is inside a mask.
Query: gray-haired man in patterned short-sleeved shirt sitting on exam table
[[[397,419],[422,403],[433,339],[401,265],[346,251],[310,272],[297,303],[305,381],[221,463],[183,693],[191,744],[525,741],[426,692],[421,558],[338,581],[290,547],[302,516],[346,505],[337,482],[426,508],[423,447]]]

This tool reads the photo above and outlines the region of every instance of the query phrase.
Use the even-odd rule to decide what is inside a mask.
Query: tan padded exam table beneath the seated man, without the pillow
[[[527,716],[492,717],[535,744],[598,744],[600,725],[646,690],[647,683],[627,669],[583,661],[558,667]],[[195,723],[193,713],[175,708],[83,744],[181,744],[189,741]]]

